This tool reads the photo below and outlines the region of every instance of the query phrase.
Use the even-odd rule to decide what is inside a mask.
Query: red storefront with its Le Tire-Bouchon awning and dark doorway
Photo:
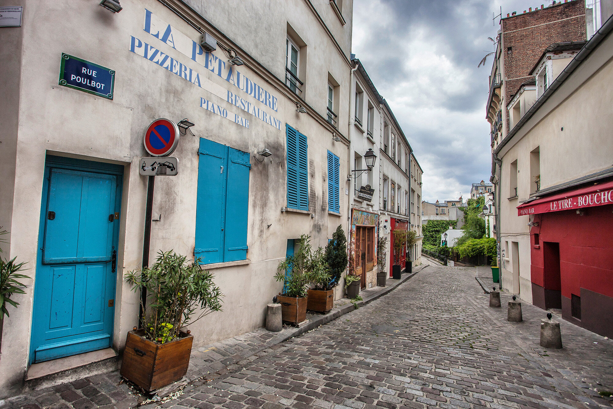
[[[613,337],[613,181],[542,197],[531,215],[533,304],[561,308],[567,321]]]

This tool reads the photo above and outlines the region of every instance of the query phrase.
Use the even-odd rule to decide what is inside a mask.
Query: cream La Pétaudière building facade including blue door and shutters
[[[0,399],[37,362],[120,351],[139,320],[123,276],[158,251],[200,257],[225,294],[223,312],[189,328],[194,346],[261,327],[294,240],[325,246],[349,217],[351,0],[243,1],[249,14],[175,0],[117,14],[12,5],[24,7],[0,45],[0,225],[31,279],[4,319]],[[177,176],[155,177],[151,223],[139,170],[159,118],[194,126],[177,135]]]

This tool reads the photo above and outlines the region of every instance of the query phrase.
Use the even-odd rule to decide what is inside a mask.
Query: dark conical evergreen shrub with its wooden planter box
[[[327,312],[334,306],[334,287],[338,286],[343,271],[347,268],[347,238],[341,225],[333,233],[332,240],[326,246],[324,262],[328,272],[323,268],[316,268],[311,272],[311,282],[315,285],[307,291],[307,309],[311,311]],[[320,262],[317,260],[316,266]]]

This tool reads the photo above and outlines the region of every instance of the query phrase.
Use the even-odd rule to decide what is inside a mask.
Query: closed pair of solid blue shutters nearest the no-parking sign
[[[196,248],[203,264],[247,258],[249,154],[200,138]]]

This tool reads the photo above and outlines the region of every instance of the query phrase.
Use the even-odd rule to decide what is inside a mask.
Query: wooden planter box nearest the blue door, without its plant
[[[120,374],[147,392],[180,380],[188,372],[193,335],[157,344],[143,337],[145,330],[128,332]]]

